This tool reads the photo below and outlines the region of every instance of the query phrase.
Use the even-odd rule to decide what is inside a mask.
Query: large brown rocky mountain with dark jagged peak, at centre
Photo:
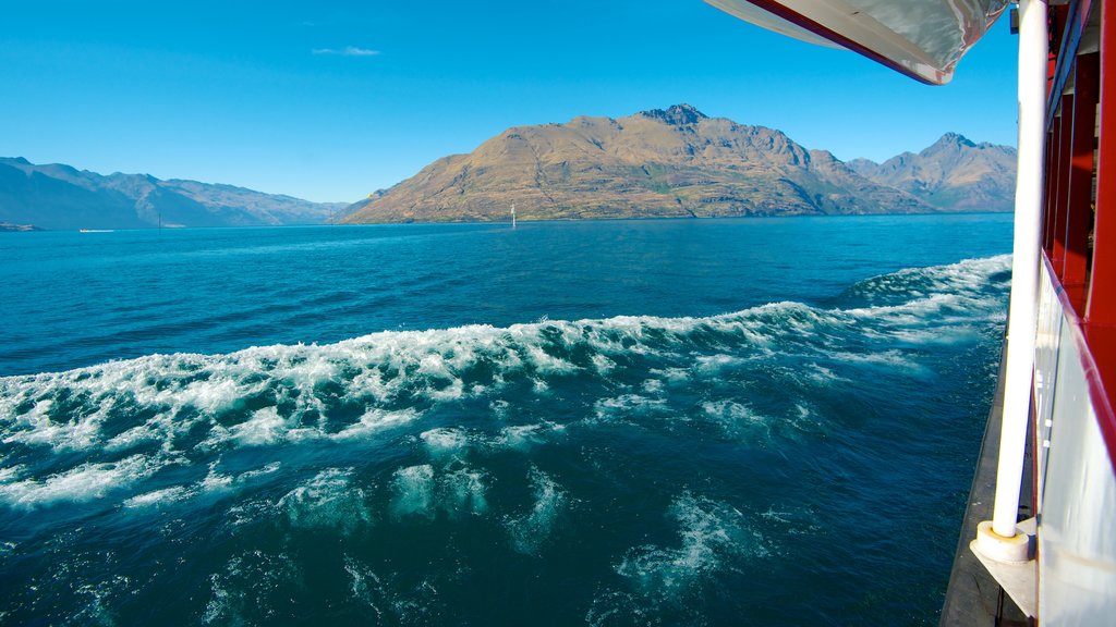
[[[779,131],[689,105],[512,127],[350,208],[348,222],[927,213]]]

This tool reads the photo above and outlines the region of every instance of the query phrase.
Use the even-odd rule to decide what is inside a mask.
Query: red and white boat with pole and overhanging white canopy
[[[705,1],[930,85],[949,83],[1009,8],[1004,0]],[[1010,15],[1019,35],[1011,305],[941,624],[1113,625],[1116,0],[1022,0]],[[910,541],[920,541],[917,529]]]

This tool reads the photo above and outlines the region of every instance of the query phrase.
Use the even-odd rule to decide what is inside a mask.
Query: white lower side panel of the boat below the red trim
[[[1080,318],[1043,255],[1035,361],[1038,607],[1049,625],[1110,624],[1116,474],[1101,433],[1112,407]]]

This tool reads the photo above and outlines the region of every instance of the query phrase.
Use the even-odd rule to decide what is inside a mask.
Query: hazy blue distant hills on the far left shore
[[[344,203],[314,203],[231,185],[103,176],[68,165],[0,157],[0,222],[42,229],[318,224]]]

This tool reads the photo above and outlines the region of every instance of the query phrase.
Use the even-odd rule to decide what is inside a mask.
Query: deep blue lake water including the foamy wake
[[[0,623],[936,624],[1010,235],[0,234]]]

